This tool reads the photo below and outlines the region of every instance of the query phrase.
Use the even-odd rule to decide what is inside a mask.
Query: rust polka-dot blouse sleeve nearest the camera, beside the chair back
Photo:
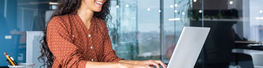
[[[48,47],[62,68],[85,68],[87,60],[83,60],[82,55],[78,52],[79,48],[73,44],[65,25],[58,19],[52,19],[48,23]]]

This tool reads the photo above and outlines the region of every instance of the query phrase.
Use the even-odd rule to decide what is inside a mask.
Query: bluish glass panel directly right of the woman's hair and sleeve
[[[113,0],[111,5],[111,39],[117,55],[126,60],[136,59],[137,51],[137,0]]]

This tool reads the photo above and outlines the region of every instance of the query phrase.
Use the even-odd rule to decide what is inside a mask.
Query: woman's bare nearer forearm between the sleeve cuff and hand
[[[85,68],[119,68],[118,62],[93,62],[87,61]]]

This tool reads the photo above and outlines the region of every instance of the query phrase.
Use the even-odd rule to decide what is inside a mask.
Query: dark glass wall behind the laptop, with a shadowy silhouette
[[[261,0],[204,0],[205,68],[262,68]],[[193,5],[200,6],[200,5]],[[201,20],[193,21],[199,26]]]

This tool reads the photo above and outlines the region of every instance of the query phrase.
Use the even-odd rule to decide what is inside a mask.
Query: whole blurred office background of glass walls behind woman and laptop
[[[111,0],[110,22],[114,25],[108,27],[110,39],[120,58],[169,64],[184,26],[210,27],[194,68],[262,68],[261,3],[263,0]],[[33,37],[27,31],[42,31],[56,7],[57,0],[0,0],[0,53],[26,63],[27,38]],[[33,46],[40,47],[35,42]],[[0,67],[8,68],[5,60],[6,56],[0,56]]]

